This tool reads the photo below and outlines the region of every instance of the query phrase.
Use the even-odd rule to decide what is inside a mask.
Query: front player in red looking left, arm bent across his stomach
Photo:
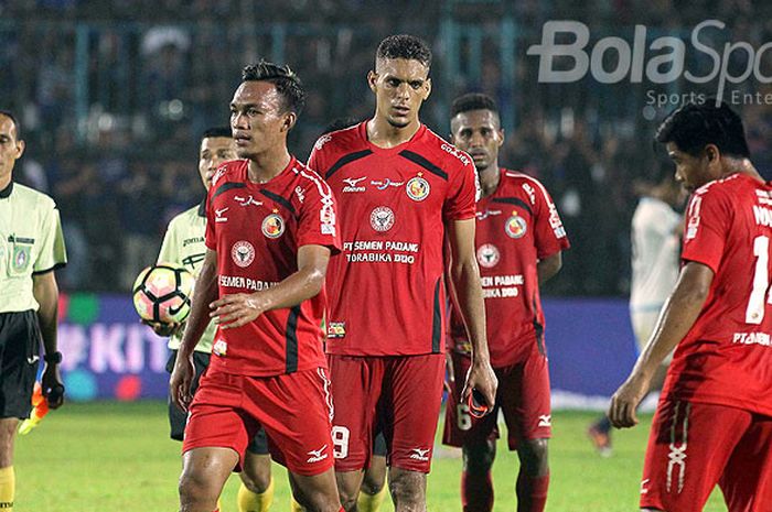
[[[171,377],[187,410],[180,503],[211,512],[262,426],[309,511],[341,510],[332,470],[332,400],[322,352],[324,277],[340,250],[330,187],[287,150],[304,92],[287,67],[244,68],[230,102],[236,153],[212,179],[206,255]],[[211,313],[208,309],[212,309]],[[217,324],[191,403],[192,351]]]

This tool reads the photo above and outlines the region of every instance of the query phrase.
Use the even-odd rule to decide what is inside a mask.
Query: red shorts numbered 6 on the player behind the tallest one
[[[461,447],[498,438],[500,408],[504,413],[511,450],[516,450],[522,440],[553,436],[547,358],[539,353],[535,344],[525,361],[493,369],[498,379],[496,405],[480,418],[469,414],[469,405],[460,402],[472,361],[455,352],[451,353],[451,360],[455,383],[450,386],[446,404],[442,444]]]

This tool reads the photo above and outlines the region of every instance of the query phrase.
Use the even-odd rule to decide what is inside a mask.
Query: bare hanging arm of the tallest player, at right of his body
[[[447,230],[451,251],[450,280],[472,344],[472,367],[467,374],[461,400],[467,401],[474,389],[480,391],[485,397],[485,403],[493,407],[497,381],[487,351],[485,305],[474,253],[474,218],[453,220]]]

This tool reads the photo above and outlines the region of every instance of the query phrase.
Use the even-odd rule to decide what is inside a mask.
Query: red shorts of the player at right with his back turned
[[[641,481],[641,508],[701,511],[719,484],[729,512],[772,506],[772,417],[660,400]]]

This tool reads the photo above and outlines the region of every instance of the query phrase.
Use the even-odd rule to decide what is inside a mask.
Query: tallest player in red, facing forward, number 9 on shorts
[[[323,135],[309,166],[341,204],[343,253],[330,263],[326,350],[335,402],[341,499],[355,510],[372,440],[383,432],[397,512],[426,510],[444,368],[443,239],[450,281],[470,330],[476,389],[493,405],[496,378],[474,255],[472,160],[418,118],[429,97],[431,52],[410,35],[386,37],[367,81],[375,116]]]

